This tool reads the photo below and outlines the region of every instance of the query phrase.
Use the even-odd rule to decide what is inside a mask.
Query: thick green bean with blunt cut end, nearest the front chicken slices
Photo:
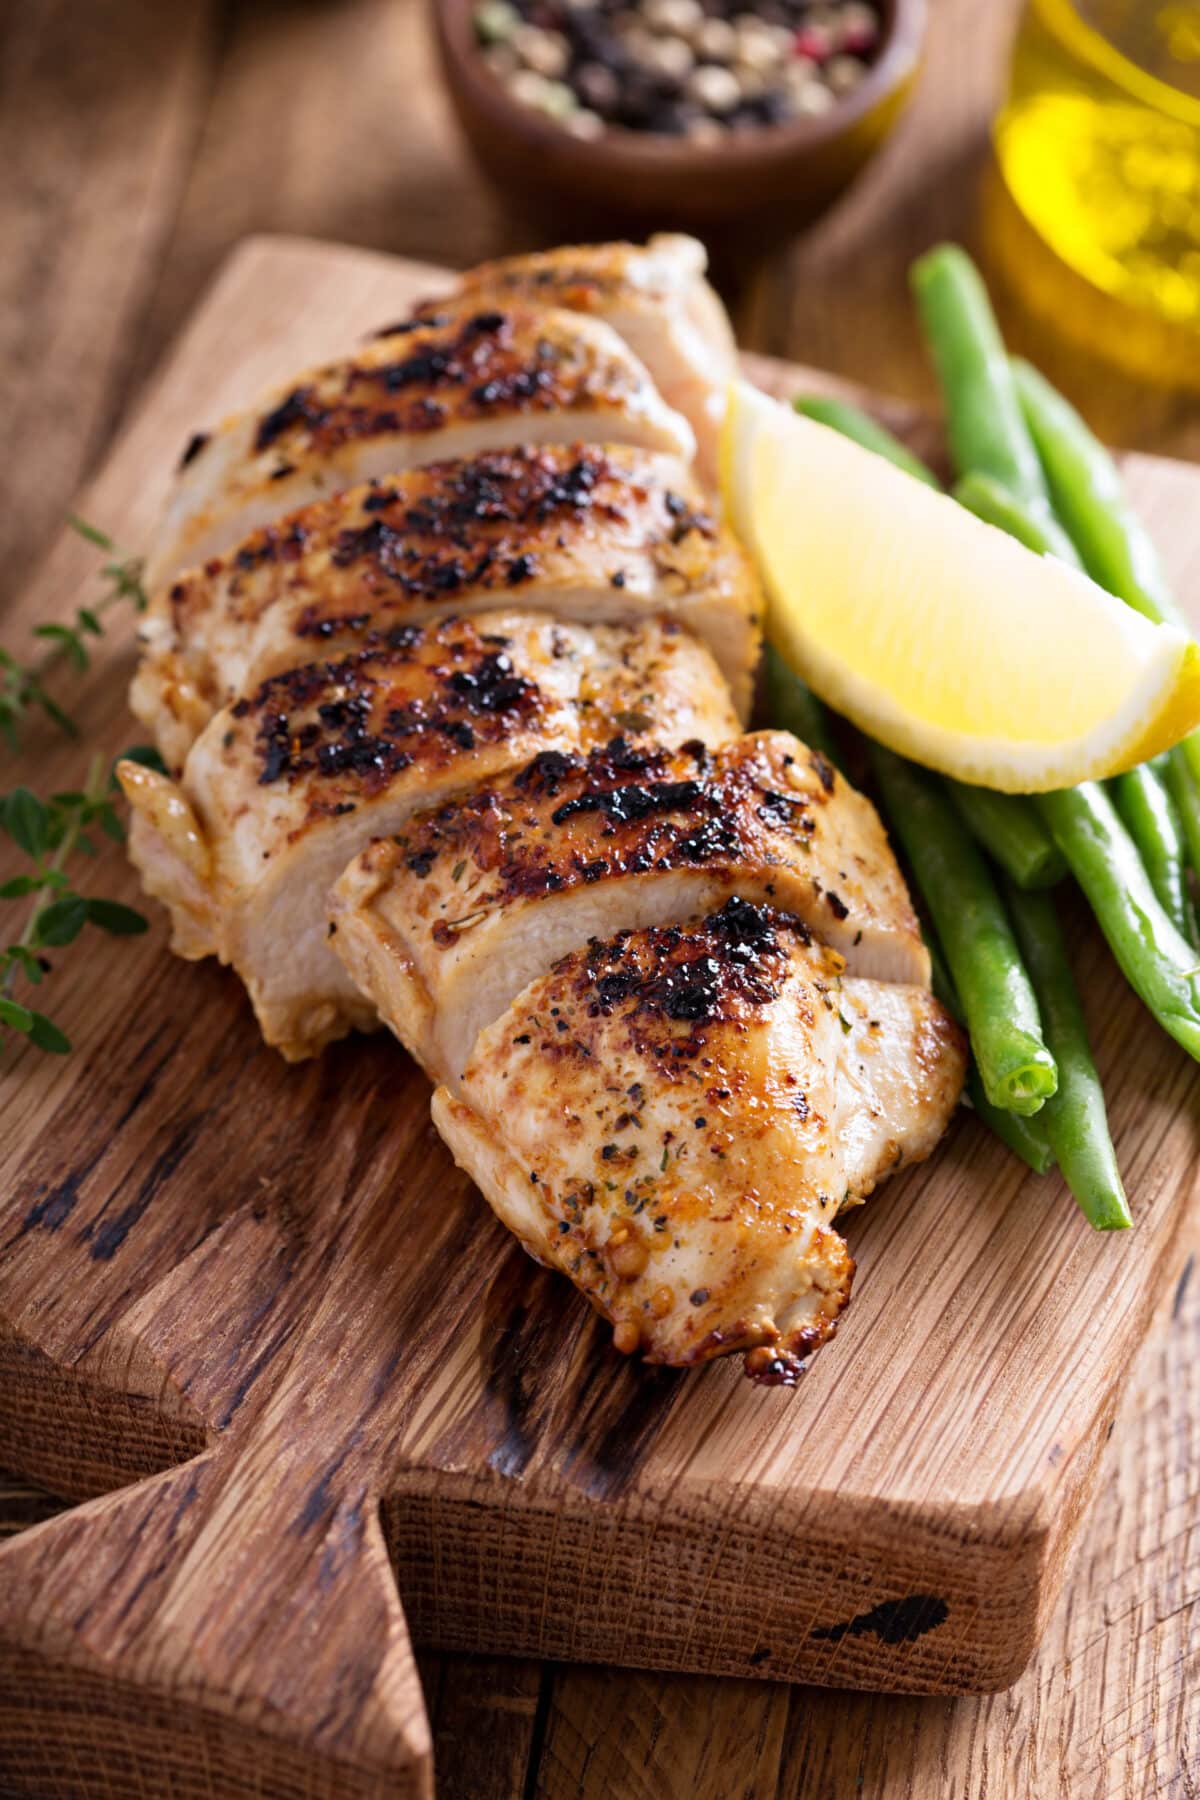
[[[1036,1112],[1058,1084],[1054,1058],[988,866],[934,781],[878,743],[871,758],[963,997],[984,1093],[1006,1112]]]

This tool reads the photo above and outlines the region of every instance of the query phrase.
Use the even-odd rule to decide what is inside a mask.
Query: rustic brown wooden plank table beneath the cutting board
[[[1011,0],[932,0],[918,99],[806,241],[752,272],[745,344],[914,398],[912,254],[977,238]],[[470,263],[531,243],[468,166],[419,0],[9,0],[0,11],[4,592],[43,551],[198,288],[245,232]],[[984,247],[986,250],[986,247]],[[1006,308],[1115,441],[1200,457],[1200,407],[1130,389]],[[198,396],[198,414],[203,396]],[[1187,1249],[1200,1242],[1193,1222]],[[439,1791],[732,1800],[1200,1793],[1200,1274],[1180,1264],[1034,1665],[988,1699],[421,1660]],[[2,1453],[2,1445],[0,1445]],[[16,1478],[0,1528],[54,1510]]]

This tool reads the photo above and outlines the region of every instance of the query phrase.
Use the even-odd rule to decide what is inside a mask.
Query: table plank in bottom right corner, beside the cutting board
[[[1193,1256],[1196,1246],[1193,1219]],[[986,1699],[835,1703],[797,1690],[779,1787],[786,1800],[846,1778],[914,1800],[932,1780],[945,1793],[999,1800],[1195,1793],[1200,1296],[1187,1267],[1124,1395],[1096,1514],[1036,1665]]]

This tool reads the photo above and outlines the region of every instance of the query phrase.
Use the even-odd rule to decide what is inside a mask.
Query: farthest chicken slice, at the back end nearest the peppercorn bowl
[[[603,319],[646,364],[666,403],[691,423],[700,473],[716,486],[716,441],[738,349],[729,315],[705,281],[707,266],[696,238],[666,232],[648,245],[576,245],[468,270],[452,304],[560,306]],[[425,311],[444,306],[432,301]]]

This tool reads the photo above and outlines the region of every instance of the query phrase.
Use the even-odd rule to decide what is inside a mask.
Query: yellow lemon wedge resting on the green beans
[[[1200,644],[1036,556],[747,382],[721,490],[766,632],[873,738],[1036,794],[1117,774],[1200,725]]]

